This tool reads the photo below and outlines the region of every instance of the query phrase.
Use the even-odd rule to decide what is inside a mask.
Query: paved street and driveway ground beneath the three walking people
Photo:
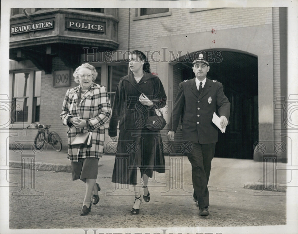
[[[184,157],[183,160],[187,158]],[[249,179],[241,177],[245,160],[238,161],[243,163],[243,168],[238,163],[237,168],[231,166],[230,169],[221,165],[222,160],[214,159],[214,173],[212,174],[211,170],[209,182],[210,215],[206,217],[198,216],[198,208],[192,200],[191,166],[187,161],[183,163],[183,173],[180,177],[177,176],[179,172],[175,177],[171,177],[170,171],[167,170],[164,174],[156,173],[153,177],[156,182],[153,182],[154,179],[149,180],[151,200],[149,203],[142,202],[138,216],[130,214],[134,202],[131,192],[133,189],[115,190],[116,184],[111,182],[113,156],[104,156],[99,162],[97,182],[102,189],[100,202],[92,205],[88,216],[79,215],[85,191],[84,184],[79,180],[72,181],[71,173],[35,171],[34,175],[32,170],[13,168],[15,170],[9,170],[9,180],[18,183],[18,186],[10,187],[10,229],[80,228],[89,229],[90,233],[93,233],[92,228],[100,230],[146,227],[150,232],[150,228],[154,227],[285,225],[286,196],[254,196],[254,192],[258,191],[243,188],[243,181]],[[234,159],[224,160],[235,162]],[[169,157],[166,157],[166,163],[167,161]],[[219,166],[223,166],[222,171],[231,170],[234,174],[238,173],[239,177],[232,176],[229,180],[229,173],[219,173],[220,170],[216,169]],[[30,182],[34,181],[30,179],[33,177],[35,185],[34,182]],[[30,189],[23,188],[20,191],[22,183],[26,187],[27,182],[24,180],[27,179]],[[170,180],[174,183],[169,183]],[[171,184],[174,186],[172,189]],[[179,188],[181,186],[183,189]],[[262,193],[272,195],[274,192]],[[162,233],[161,230],[160,232]],[[220,229],[218,232],[221,232]]]

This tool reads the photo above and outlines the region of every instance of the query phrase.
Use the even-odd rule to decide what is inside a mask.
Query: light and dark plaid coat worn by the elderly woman
[[[93,83],[82,97],[80,103],[78,103],[79,88],[80,85],[67,90],[63,101],[62,113],[60,114],[63,125],[69,127],[67,132],[67,158],[72,162],[77,162],[79,158],[102,157],[105,141],[104,124],[111,118],[111,104],[105,86]],[[82,129],[75,128],[68,122],[68,119],[71,117],[86,120],[88,124],[83,129],[83,132],[92,131],[92,146],[81,148],[78,156],[77,149],[72,148],[70,144]]]

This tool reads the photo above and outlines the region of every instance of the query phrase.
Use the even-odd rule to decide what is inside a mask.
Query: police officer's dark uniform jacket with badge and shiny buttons
[[[172,129],[176,132],[182,114],[182,134],[184,141],[207,144],[218,140],[218,128],[212,123],[213,112],[218,108],[219,116],[229,121],[230,103],[224,95],[220,82],[207,78],[199,96],[195,79],[179,84],[174,102]]]

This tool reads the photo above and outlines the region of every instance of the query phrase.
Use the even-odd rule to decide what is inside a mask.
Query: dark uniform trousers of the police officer
[[[193,149],[187,153],[188,160],[191,163],[193,177],[193,197],[198,201],[199,208],[209,206],[209,191],[207,188],[211,160],[214,157],[215,145],[192,143]]]

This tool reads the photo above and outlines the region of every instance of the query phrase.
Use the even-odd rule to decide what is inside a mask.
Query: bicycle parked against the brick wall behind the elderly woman
[[[58,133],[50,132],[49,128],[51,125],[43,125],[38,122],[30,124],[26,130],[34,124],[34,127],[38,129],[37,135],[34,139],[34,148],[36,150],[42,150],[44,148],[44,143],[50,144],[57,152],[62,149],[62,140]]]

